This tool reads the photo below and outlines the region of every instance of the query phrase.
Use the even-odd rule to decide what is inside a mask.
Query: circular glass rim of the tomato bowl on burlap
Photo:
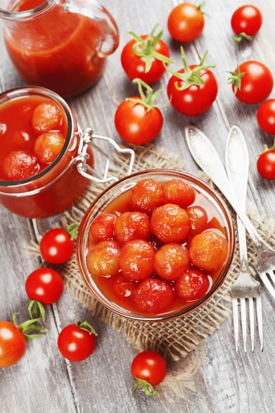
[[[100,288],[97,287],[96,282],[92,278],[91,274],[89,273],[87,266],[86,266],[86,255],[85,255],[85,237],[87,236],[87,233],[89,233],[89,217],[91,216],[91,212],[93,211],[94,207],[96,207],[96,204],[98,201],[106,195],[111,189],[114,189],[117,187],[119,184],[126,180],[131,180],[132,178],[135,178],[137,176],[143,177],[146,174],[159,174],[159,175],[170,175],[172,178],[183,178],[185,180],[188,180],[191,184],[197,185],[197,187],[201,188],[204,192],[210,194],[209,199],[214,201],[214,207],[217,209],[216,203],[219,205],[219,213],[221,214],[221,217],[223,218],[223,223],[225,224],[225,228],[227,231],[227,237],[228,237],[228,243],[229,243],[229,252],[228,252],[228,257],[223,264],[223,268],[221,269],[221,272],[219,273],[219,276],[217,277],[217,282],[210,288],[208,293],[203,297],[201,300],[196,301],[195,304],[192,305],[190,303],[190,306],[187,306],[186,308],[181,308],[180,310],[175,310],[174,313],[162,313],[160,315],[144,315],[140,313],[133,313],[130,310],[126,310],[125,308],[122,308],[118,304],[113,303],[110,299],[108,299],[104,293],[101,292]],[[173,177],[174,176],[174,177]],[[145,178],[144,178],[145,179]],[[153,179],[153,177],[151,177]],[[129,188],[127,188],[129,189]],[[126,191],[126,189],[125,189]],[[111,202],[111,200],[109,200]],[[108,204],[109,204],[108,202]],[[102,213],[102,210],[99,210],[98,213]],[[228,271],[230,269],[230,265],[232,263],[233,257],[234,257],[234,247],[235,247],[235,233],[234,233],[234,225],[233,221],[230,215],[230,211],[225,204],[224,200],[221,198],[219,193],[212,189],[210,185],[208,185],[206,182],[203,180],[197,178],[196,176],[191,175],[190,173],[186,173],[184,171],[177,171],[175,169],[146,169],[144,171],[139,171],[132,173],[129,176],[125,176],[124,178],[121,178],[117,182],[114,182],[111,184],[109,187],[104,189],[97,197],[96,199],[91,203],[87,211],[85,212],[85,215],[83,216],[83,219],[80,223],[80,227],[78,230],[78,238],[76,241],[76,259],[78,263],[78,270],[80,271],[80,275],[83,278],[83,281],[85,282],[87,288],[89,289],[89,292],[91,295],[100,302],[104,307],[108,308],[111,310],[113,313],[116,315],[120,315],[122,317],[126,317],[127,319],[133,319],[136,321],[148,321],[148,322],[157,322],[157,321],[170,321],[173,319],[177,319],[180,317],[183,317],[184,315],[188,315],[189,313],[192,313],[192,311],[197,310],[203,304],[205,304],[207,301],[212,298],[219,288],[223,285],[225,282],[225,279],[228,275]],[[94,283],[94,285],[93,285]],[[101,294],[99,294],[99,293]]]

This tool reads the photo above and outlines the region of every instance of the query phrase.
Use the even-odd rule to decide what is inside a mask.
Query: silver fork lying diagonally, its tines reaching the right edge
[[[185,129],[186,141],[188,148],[192,153],[199,167],[210,176],[214,184],[221,190],[225,198],[232,205],[236,213],[241,218],[245,228],[252,237],[252,240],[257,249],[257,258],[254,262],[254,268],[261,277],[263,284],[273,298],[275,298],[275,289],[272,283],[275,284],[275,251],[267,243],[265,243],[259,233],[257,233],[252,222],[240,207],[231,184],[226,175],[225,169],[219,158],[219,155],[214,149],[214,146],[208,138],[195,126],[188,126]]]

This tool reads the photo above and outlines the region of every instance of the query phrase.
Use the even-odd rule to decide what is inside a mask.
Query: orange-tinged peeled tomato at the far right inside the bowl
[[[228,256],[228,242],[214,231],[204,231],[192,239],[189,255],[193,265],[213,271],[223,266]]]

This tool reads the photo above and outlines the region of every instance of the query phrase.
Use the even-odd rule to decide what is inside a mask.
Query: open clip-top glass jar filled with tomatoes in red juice
[[[43,106],[50,112],[40,125]],[[78,128],[65,100],[48,89],[18,87],[0,94],[0,203],[5,208],[26,218],[45,218],[72,207],[83,195],[89,180],[75,162]],[[87,165],[94,165],[90,147]]]

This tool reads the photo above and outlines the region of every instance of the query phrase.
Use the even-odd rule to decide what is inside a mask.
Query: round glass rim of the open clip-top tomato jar
[[[45,96],[49,99],[52,99],[58,103],[63,109],[63,112],[66,116],[67,119],[67,136],[65,138],[65,143],[63,145],[63,148],[61,152],[58,154],[57,158],[52,162],[48,167],[45,167],[43,171],[36,173],[35,175],[30,176],[30,178],[25,178],[22,180],[14,180],[14,181],[9,181],[9,180],[0,180],[0,187],[24,187],[26,184],[29,184],[30,182],[34,182],[38,180],[39,178],[42,178],[45,176],[48,172],[52,171],[54,167],[58,164],[58,162],[63,158],[65,155],[70,142],[72,142],[72,138],[74,137],[75,131],[75,122],[74,122],[74,116],[72,114],[72,111],[69,107],[69,105],[65,102],[61,96],[56,94],[55,92],[52,92],[52,90],[47,89],[46,87],[41,87],[41,86],[25,86],[25,87],[14,87],[12,89],[8,89],[5,92],[2,92],[0,94],[0,105],[7,103],[9,100],[21,98],[24,96]]]

